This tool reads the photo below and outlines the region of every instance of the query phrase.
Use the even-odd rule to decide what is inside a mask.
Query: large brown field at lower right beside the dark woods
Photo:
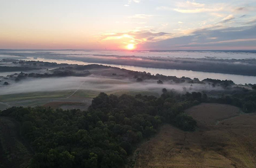
[[[164,125],[135,153],[135,168],[256,168],[256,114],[224,104],[200,104],[186,113],[195,132]]]

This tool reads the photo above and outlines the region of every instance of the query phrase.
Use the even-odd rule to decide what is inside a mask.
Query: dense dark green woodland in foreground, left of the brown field
[[[100,93],[87,111],[12,107],[0,115],[20,122],[20,134],[35,151],[31,168],[122,168],[161,123],[195,130],[183,110],[199,104],[201,93],[163,92],[160,98]]]

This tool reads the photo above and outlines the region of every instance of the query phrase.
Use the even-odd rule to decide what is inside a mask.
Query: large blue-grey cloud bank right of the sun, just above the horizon
[[[231,18],[231,17],[230,17]],[[256,49],[256,25],[240,27],[212,27],[193,31],[191,34],[158,42],[143,44],[144,48],[172,49]]]

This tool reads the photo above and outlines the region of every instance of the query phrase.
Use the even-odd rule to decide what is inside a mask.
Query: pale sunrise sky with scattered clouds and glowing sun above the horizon
[[[0,0],[0,49],[256,50],[256,0]]]

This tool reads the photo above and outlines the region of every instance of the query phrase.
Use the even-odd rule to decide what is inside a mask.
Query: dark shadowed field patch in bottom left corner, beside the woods
[[[0,117],[0,163],[3,168],[27,168],[32,149],[20,137],[20,126],[12,118]]]

